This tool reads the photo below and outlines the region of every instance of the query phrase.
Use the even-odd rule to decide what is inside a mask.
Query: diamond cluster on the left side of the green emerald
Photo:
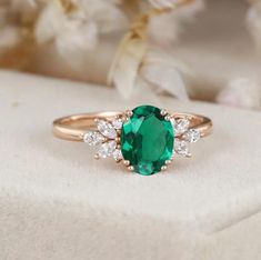
[[[83,141],[91,147],[99,146],[96,154],[97,159],[113,157],[116,161],[122,160],[122,153],[119,147],[120,130],[123,124],[122,118],[116,118],[113,121],[97,119],[97,131],[89,131],[83,136]]]

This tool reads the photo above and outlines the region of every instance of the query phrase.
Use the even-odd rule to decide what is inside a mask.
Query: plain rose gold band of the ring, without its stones
[[[53,121],[53,134],[60,139],[69,141],[83,141],[83,136],[87,131],[96,129],[96,119],[106,119],[112,121],[122,112],[96,112],[74,114]],[[200,131],[201,137],[208,136],[212,131],[212,122],[209,118],[192,113],[171,113],[175,119],[188,118],[190,128]]]

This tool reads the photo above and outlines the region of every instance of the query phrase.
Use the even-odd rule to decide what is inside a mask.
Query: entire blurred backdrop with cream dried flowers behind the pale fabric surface
[[[261,109],[261,0],[0,0],[0,68]]]

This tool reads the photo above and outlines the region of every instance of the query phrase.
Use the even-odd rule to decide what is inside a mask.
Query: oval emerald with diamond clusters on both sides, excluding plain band
[[[165,170],[175,156],[192,156],[190,143],[202,137],[192,118],[141,106],[114,117],[96,118],[97,129],[82,134],[82,141],[99,146],[96,159],[113,158],[129,171],[151,176]]]

